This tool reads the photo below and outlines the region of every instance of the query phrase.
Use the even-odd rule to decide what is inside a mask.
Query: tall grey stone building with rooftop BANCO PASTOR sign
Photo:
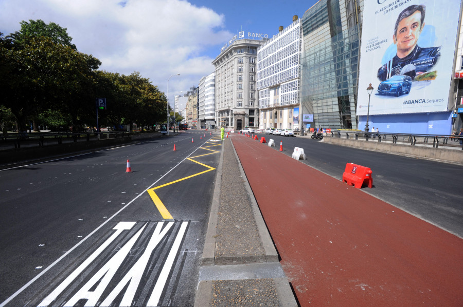
[[[231,43],[212,62],[216,74],[216,123],[240,130],[258,128],[257,48],[264,41]]]

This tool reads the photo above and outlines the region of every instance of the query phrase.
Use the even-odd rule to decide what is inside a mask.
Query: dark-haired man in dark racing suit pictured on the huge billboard
[[[424,5],[411,5],[398,16],[393,41],[397,54],[378,69],[378,79],[385,81],[395,74],[415,76],[427,72],[440,56],[440,46],[421,48],[418,38],[424,28]],[[407,66],[407,67],[405,67]]]

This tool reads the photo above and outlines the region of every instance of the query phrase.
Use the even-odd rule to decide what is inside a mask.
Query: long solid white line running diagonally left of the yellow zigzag
[[[126,147],[126,146],[123,146],[123,147]],[[188,155],[188,157],[192,156],[194,154],[194,152],[196,152],[198,149],[201,148],[201,145],[194,149],[190,155]],[[102,150],[103,151],[103,150]],[[87,155],[87,154],[85,154]],[[82,156],[82,155],[79,155],[79,156]],[[77,156],[76,156],[77,157]],[[69,255],[72,251],[74,251],[79,245],[81,245],[83,242],[85,242],[88,238],[90,238],[91,236],[93,236],[97,231],[99,231],[99,229],[101,227],[103,227],[104,225],[106,225],[106,223],[108,223],[109,221],[111,221],[114,217],[116,217],[119,213],[122,212],[122,210],[124,210],[125,208],[127,208],[128,206],[130,206],[131,203],[133,203],[138,197],[140,197],[141,195],[143,195],[147,190],[149,190],[152,186],[154,186],[155,184],[157,184],[159,181],[161,181],[165,176],[167,176],[167,174],[169,174],[169,172],[171,172],[172,170],[175,169],[175,167],[179,166],[180,164],[182,164],[183,161],[187,160],[188,157],[186,157],[185,159],[183,159],[182,161],[180,161],[177,165],[175,165],[174,167],[172,167],[172,169],[170,169],[168,172],[166,172],[166,174],[164,174],[163,176],[161,176],[161,178],[159,178],[158,180],[156,180],[152,185],[150,185],[150,187],[146,188],[143,192],[141,192],[139,195],[137,195],[134,199],[132,199],[127,205],[123,206],[122,208],[119,209],[118,212],[116,212],[115,214],[113,214],[113,216],[111,216],[109,219],[107,219],[106,221],[104,221],[101,225],[99,225],[97,228],[95,228],[95,230],[93,232],[91,232],[90,234],[88,234],[85,238],[83,238],[82,240],[80,240],[76,245],[74,245],[72,248],[70,248],[70,250],[68,250],[65,254],[63,254],[60,258],[58,258],[57,260],[55,260],[55,262],[51,263],[49,266],[47,266],[45,268],[45,270],[43,270],[42,272],[40,272],[37,276],[35,276],[34,278],[32,278],[31,280],[29,280],[29,282],[27,282],[25,285],[23,285],[19,290],[17,290],[15,293],[13,293],[9,298],[7,298],[5,301],[3,301],[2,303],[0,303],[0,307],[3,307],[5,306],[9,301],[11,301],[13,298],[15,298],[16,296],[18,296],[19,294],[21,294],[21,292],[23,292],[28,286],[30,286],[35,280],[39,279],[40,277],[42,277],[42,275],[44,275],[46,272],[48,272],[48,270],[50,270],[50,268],[54,267],[56,264],[58,264],[64,257],[66,257],[67,255]],[[70,157],[67,157],[67,158],[70,158]],[[66,159],[66,158],[62,158],[62,159]],[[62,159],[57,159],[57,160],[62,160]],[[40,162],[40,163],[44,163],[44,162]],[[40,163],[35,163],[35,164],[40,164]],[[33,165],[33,164],[30,164],[30,165]],[[23,165],[24,166],[24,165]],[[21,166],[22,167],[22,166]],[[13,168],[16,168],[16,167],[13,167]]]

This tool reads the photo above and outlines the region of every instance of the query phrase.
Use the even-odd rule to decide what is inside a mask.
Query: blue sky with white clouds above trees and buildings
[[[268,34],[302,17],[317,1],[244,0],[0,0],[0,32],[21,21],[67,28],[78,50],[97,57],[100,69],[139,71],[173,96],[213,72],[212,60],[239,30]]]

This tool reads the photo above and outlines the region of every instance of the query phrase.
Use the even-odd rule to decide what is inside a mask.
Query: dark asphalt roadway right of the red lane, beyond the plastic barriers
[[[362,188],[365,193],[463,238],[463,166],[337,146],[310,138],[258,134],[259,140],[262,137],[267,142],[273,139],[275,150],[279,150],[282,142],[283,154],[290,157],[294,147],[303,148],[306,160],[300,160],[302,163],[339,180],[346,163],[371,168],[373,188]]]

